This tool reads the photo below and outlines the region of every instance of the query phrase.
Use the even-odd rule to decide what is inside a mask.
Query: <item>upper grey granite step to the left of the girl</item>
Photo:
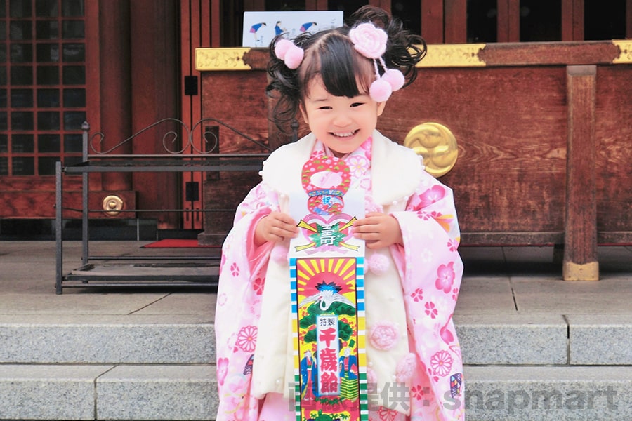
[[[0,316],[0,363],[214,361],[214,325],[199,316]]]

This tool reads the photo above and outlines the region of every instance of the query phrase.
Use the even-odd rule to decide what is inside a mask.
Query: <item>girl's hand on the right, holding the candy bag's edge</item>
[[[402,243],[400,223],[385,213],[370,212],[353,224],[353,236],[366,241],[367,248],[383,248]]]

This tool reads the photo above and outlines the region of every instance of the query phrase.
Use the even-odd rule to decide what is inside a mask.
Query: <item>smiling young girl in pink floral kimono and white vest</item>
[[[296,420],[287,253],[298,227],[288,202],[314,156],[346,161],[352,185],[366,194],[353,235],[367,248],[369,420],[463,420],[452,323],[463,267],[452,191],[411,149],[376,131],[390,94],[412,83],[425,53],[421,38],[370,6],[345,27],[273,41],[276,122],[300,113],[311,133],[265,161],[223,246],[218,421]]]

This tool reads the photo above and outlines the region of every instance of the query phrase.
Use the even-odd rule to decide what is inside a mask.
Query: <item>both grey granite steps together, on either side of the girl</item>
[[[631,316],[454,321],[468,421],[632,419]],[[214,420],[214,361],[204,316],[1,316],[0,420]]]

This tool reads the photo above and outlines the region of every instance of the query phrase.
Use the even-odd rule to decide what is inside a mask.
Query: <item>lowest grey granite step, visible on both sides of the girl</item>
[[[447,404],[468,421],[632,419],[631,366],[466,366],[464,374],[466,398]],[[0,419],[215,420],[216,387],[211,365],[0,365]],[[399,404],[383,396],[371,401]]]

